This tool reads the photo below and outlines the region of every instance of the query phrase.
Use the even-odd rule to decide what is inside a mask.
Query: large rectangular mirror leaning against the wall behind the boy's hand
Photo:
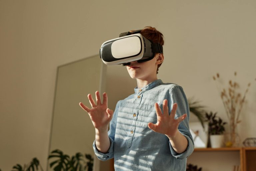
[[[53,157],[48,160],[48,170],[65,167],[68,159],[64,154],[72,160],[72,156],[80,153],[83,156],[76,156],[78,160],[92,162],[88,156],[94,156],[92,143],[95,129],[79,102],[90,106],[89,101],[85,100],[87,95],[97,90],[104,91],[104,68],[99,55],[58,67],[49,144],[49,155]],[[59,160],[61,157],[66,157],[62,164]],[[82,166],[83,161],[80,162]]]

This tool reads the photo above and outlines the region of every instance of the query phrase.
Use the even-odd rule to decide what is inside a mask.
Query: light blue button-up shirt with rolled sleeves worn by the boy
[[[135,93],[118,101],[108,131],[110,149],[104,154],[93,148],[100,160],[114,157],[115,171],[185,171],[187,157],[194,150],[189,131],[189,106],[181,86],[163,83],[160,79],[145,87],[134,89]],[[187,149],[178,154],[168,137],[152,131],[148,123],[156,123],[154,104],[162,109],[163,100],[168,100],[169,113],[174,103],[178,104],[175,118],[187,113],[179,124],[179,132],[188,140]]]

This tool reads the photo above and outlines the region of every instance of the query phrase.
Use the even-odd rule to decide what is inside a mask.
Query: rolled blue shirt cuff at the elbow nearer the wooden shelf
[[[172,145],[171,145],[171,143],[170,143],[170,141],[169,141],[171,153],[172,153],[172,155],[173,155],[175,158],[177,158],[177,159],[185,159],[185,158],[187,158],[190,154],[192,154],[192,152],[194,151],[194,143],[192,142],[192,140],[189,138],[189,136],[187,136],[187,135],[185,135],[185,134],[182,134],[182,135],[184,135],[184,136],[187,138],[187,140],[188,140],[188,146],[187,146],[187,149],[186,149],[183,153],[181,153],[181,154],[177,153],[177,152],[172,148]]]

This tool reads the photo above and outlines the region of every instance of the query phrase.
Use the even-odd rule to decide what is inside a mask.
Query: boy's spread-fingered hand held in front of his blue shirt
[[[148,123],[148,127],[152,129],[155,132],[165,134],[168,137],[174,137],[178,133],[178,126],[181,121],[183,121],[187,114],[183,114],[179,118],[175,119],[175,114],[177,110],[177,103],[173,104],[172,111],[169,115],[167,100],[165,99],[163,101],[163,113],[158,106],[157,103],[155,103],[156,108],[156,115],[157,115],[157,123]]]

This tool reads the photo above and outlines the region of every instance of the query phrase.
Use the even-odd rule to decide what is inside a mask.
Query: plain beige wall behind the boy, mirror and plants
[[[255,79],[255,16],[254,0],[0,0],[0,168],[38,157],[46,169],[57,66],[148,25],[165,36],[158,77],[226,119],[212,75],[227,81],[237,71],[242,88]],[[242,112],[241,140],[256,137],[255,87],[254,81]]]

